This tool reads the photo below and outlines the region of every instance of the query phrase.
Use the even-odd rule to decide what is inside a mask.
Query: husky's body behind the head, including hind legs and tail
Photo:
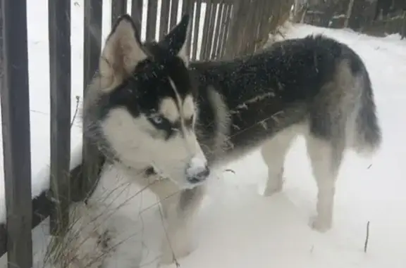
[[[381,143],[371,81],[357,53],[316,35],[252,56],[191,63],[190,69],[199,84],[197,103],[204,112],[197,133],[209,165],[261,148],[269,169],[264,195],[270,195],[282,189],[290,143],[305,136],[318,187],[311,225],[330,229],[345,149],[371,155]]]

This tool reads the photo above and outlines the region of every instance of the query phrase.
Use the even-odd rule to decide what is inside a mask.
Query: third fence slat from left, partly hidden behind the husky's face
[[[83,51],[83,96],[86,94],[87,84],[90,83],[95,70],[99,68],[99,56],[101,51],[101,12],[103,0],[85,1],[85,37]],[[90,142],[85,134],[82,148],[82,179],[80,180],[80,196],[85,198],[96,185],[99,177],[101,153],[94,143]]]

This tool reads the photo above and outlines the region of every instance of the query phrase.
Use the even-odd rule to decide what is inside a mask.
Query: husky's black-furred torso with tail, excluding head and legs
[[[219,131],[232,143],[223,150],[240,154],[303,123],[309,125],[310,134],[359,152],[374,151],[380,144],[367,69],[357,53],[333,39],[321,35],[288,39],[253,56],[192,63],[192,69],[204,110],[199,132],[210,152],[221,146],[213,142]],[[229,116],[219,114],[221,106]],[[214,128],[216,117],[223,117],[227,122],[218,125],[228,128]]]

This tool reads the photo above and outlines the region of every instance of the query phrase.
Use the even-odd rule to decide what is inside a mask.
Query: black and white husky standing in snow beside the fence
[[[83,110],[85,133],[123,174],[128,189],[149,186],[160,198],[170,241],[164,240],[161,261],[192,250],[190,221],[211,167],[261,148],[269,167],[265,194],[281,191],[285,154],[300,134],[319,189],[312,226],[329,229],[345,148],[372,153],[381,143],[362,60],[333,39],[309,36],[235,60],[188,63],[187,29],[185,15],[160,42],[141,44],[131,18],[121,17],[106,41]],[[81,217],[98,212],[102,190],[117,183],[101,178],[88,201],[93,207],[80,205]],[[99,220],[97,234],[113,234],[109,243],[136,220],[128,206],[118,212],[118,226]],[[93,243],[98,246],[96,238]],[[121,259],[129,260],[121,260],[120,267],[133,267],[134,250],[121,245],[98,265],[111,267],[121,252]]]

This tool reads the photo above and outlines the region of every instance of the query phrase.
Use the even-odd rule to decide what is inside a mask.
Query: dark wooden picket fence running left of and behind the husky
[[[70,1],[49,0],[50,189],[31,198],[30,108],[27,55],[27,0],[1,0],[1,115],[4,144],[6,224],[0,224],[0,255],[8,267],[32,267],[32,228],[50,217],[50,233],[63,236],[68,206],[84,200],[97,181],[104,158],[83,137],[82,165],[70,170]],[[85,0],[83,91],[101,51],[102,0]],[[272,27],[269,0],[113,0],[111,21],[131,13],[137,27],[146,22],[147,41],[161,38],[192,14],[187,40],[192,60],[233,58],[253,53]],[[158,6],[158,4],[161,6]],[[146,15],[142,13],[147,4]],[[158,10],[161,15],[158,18]],[[145,16],[143,16],[145,15]],[[145,18],[143,18],[145,17]],[[159,27],[157,27],[159,24]],[[201,30],[202,29],[202,30]],[[156,32],[156,31],[159,32]]]

